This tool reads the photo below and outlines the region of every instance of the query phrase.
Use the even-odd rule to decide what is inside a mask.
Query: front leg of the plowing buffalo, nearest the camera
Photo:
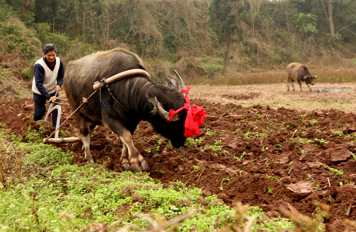
[[[131,132],[126,129],[124,124],[122,124],[122,122],[119,120],[115,120],[114,118],[107,116],[105,113],[103,114],[103,121],[112,131],[114,131],[114,133],[120,136],[122,143],[124,143],[123,153],[126,153],[126,151],[124,151],[124,148],[126,146],[129,157],[128,160],[130,162],[132,170],[140,172],[141,170],[147,169],[148,164],[146,160],[143,158],[140,152],[137,151],[137,148],[133,145]],[[127,160],[127,155],[125,155],[125,153],[123,159],[124,162]]]

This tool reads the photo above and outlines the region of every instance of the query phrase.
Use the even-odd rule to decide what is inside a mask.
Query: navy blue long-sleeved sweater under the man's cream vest
[[[51,67],[51,65],[48,63],[47,58],[43,57],[43,60],[45,60],[45,63],[49,69],[52,71],[54,70],[54,66],[56,66],[56,59],[54,59],[54,65]],[[62,86],[63,84],[63,77],[64,77],[64,67],[63,67],[63,61],[59,59],[60,64],[59,64],[59,70],[57,74],[57,85]],[[36,64],[35,67],[33,68],[33,71],[35,73],[35,83],[38,91],[46,97],[47,100],[51,98],[51,96],[48,94],[47,90],[45,87],[43,87],[43,80],[45,79],[45,69],[42,67],[41,64]]]

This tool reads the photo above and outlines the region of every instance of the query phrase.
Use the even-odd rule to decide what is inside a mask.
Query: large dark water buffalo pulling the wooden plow
[[[64,77],[64,90],[73,111],[93,92],[93,84],[126,70],[146,70],[140,58],[122,48],[96,52],[69,63]],[[184,83],[178,73],[177,85],[164,86],[150,78],[136,74],[120,79],[97,91],[74,113],[85,159],[94,162],[90,154],[90,136],[96,125],[105,125],[120,136],[123,148],[121,164],[125,169],[140,171],[148,168],[147,162],[132,142],[132,133],[138,122],[146,120],[161,135],[171,139],[174,147],[181,147],[186,140],[184,122],[187,111],[174,115],[171,122],[168,110],[177,110],[185,102]],[[178,87],[178,88],[177,88]],[[102,100],[102,101],[101,101]],[[105,104],[102,104],[102,103]],[[166,109],[166,110],[165,110]]]

